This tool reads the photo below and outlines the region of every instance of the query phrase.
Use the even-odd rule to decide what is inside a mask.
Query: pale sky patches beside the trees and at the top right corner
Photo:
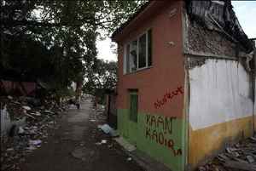
[[[232,5],[247,37],[256,38],[256,1],[232,1]],[[113,43],[109,37],[103,41],[97,41],[99,59],[117,61],[117,54],[113,54],[111,44]]]

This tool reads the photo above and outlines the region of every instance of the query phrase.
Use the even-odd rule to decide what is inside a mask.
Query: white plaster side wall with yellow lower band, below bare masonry
[[[189,163],[195,166],[253,133],[252,81],[236,60],[189,69]]]

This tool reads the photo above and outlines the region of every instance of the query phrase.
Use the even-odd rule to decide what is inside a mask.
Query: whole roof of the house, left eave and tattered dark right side
[[[113,41],[115,41],[116,37],[125,31],[125,28],[127,28],[133,20],[136,20],[140,14],[143,15],[143,12],[150,10],[150,6],[157,6],[154,4],[160,2],[163,1],[152,0],[143,4],[143,6],[137,10],[137,13],[133,14],[129,20],[127,20],[116,31],[113,32]],[[240,43],[241,47],[243,47],[243,51],[247,53],[253,50],[252,40],[249,40],[245,32],[242,30],[236,14],[232,9],[233,7],[230,0],[185,0],[185,4],[190,20],[195,20],[207,26],[209,30],[216,30],[224,33],[233,42]]]

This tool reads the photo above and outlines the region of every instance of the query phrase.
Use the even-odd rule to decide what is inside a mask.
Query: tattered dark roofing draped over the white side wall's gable
[[[196,21],[204,26],[209,33],[218,31],[220,37],[226,37],[239,45],[241,51],[249,54],[253,51],[253,43],[242,30],[230,0],[226,1],[193,1],[186,0],[189,20]],[[198,29],[201,31],[202,29]],[[194,33],[194,32],[192,32]],[[214,36],[214,35],[212,35]],[[207,37],[207,35],[206,35]],[[195,40],[195,39],[194,39]],[[213,43],[213,45],[215,45]],[[217,45],[217,44],[216,44]],[[224,47],[226,48],[226,47]]]

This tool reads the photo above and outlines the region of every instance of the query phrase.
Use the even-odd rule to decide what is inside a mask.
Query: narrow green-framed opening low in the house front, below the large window
[[[137,91],[130,91],[130,120],[137,123]]]

